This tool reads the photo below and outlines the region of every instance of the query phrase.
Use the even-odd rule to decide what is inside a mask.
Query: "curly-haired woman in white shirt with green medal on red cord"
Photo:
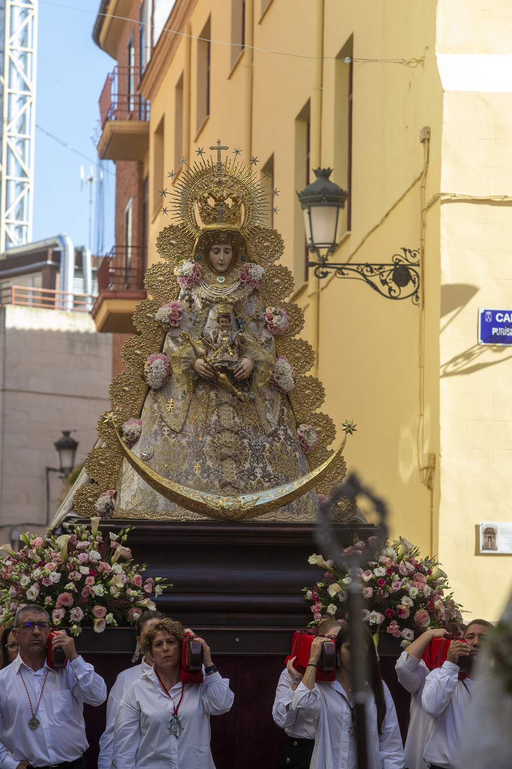
[[[130,685],[117,707],[115,769],[215,769],[210,715],[227,713],[233,692],[203,638],[203,684],[180,681],[183,636],[183,625],[170,619],[142,634],[140,649],[151,654],[154,666]]]

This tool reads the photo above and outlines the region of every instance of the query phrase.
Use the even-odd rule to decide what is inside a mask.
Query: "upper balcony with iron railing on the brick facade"
[[[143,67],[115,67],[101,92],[97,153],[107,160],[144,160],[150,103],[138,92]]]

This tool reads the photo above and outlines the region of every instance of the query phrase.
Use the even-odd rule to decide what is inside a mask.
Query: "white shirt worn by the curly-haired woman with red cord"
[[[181,682],[169,690],[177,706]],[[230,681],[220,673],[203,684],[185,684],[178,709],[183,731],[170,734],[173,701],[167,697],[154,669],[130,684],[114,726],[112,765],[115,769],[215,769],[210,752],[210,715],[227,713],[233,704]]]

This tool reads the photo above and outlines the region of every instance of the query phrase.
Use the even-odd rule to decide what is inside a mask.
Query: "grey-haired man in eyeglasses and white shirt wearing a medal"
[[[86,769],[82,710],[84,702],[105,701],[103,678],[65,633],[53,638],[52,647],[64,651],[68,664],[48,665],[50,618],[41,606],[19,609],[12,632],[19,653],[0,671],[0,769]]]

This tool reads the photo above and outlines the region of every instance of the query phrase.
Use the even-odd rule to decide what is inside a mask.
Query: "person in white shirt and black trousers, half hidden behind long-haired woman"
[[[320,620],[312,632],[316,631],[317,634],[336,638],[341,627],[337,620],[326,618]],[[309,769],[315,747],[315,721],[305,711],[292,708],[294,691],[291,684],[293,682],[299,684],[302,681],[302,674],[293,667],[294,661],[295,657],[289,661],[279,676],[272,708],[274,721],[288,734],[288,745],[282,754],[279,769]]]

